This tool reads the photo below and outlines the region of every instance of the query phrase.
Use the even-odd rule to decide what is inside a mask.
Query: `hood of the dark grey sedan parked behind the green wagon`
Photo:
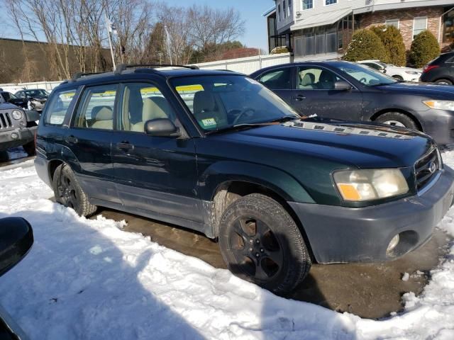
[[[424,98],[443,98],[454,100],[454,86],[428,83],[399,82],[390,85],[375,86],[375,89],[392,91],[399,94],[415,94]]]

